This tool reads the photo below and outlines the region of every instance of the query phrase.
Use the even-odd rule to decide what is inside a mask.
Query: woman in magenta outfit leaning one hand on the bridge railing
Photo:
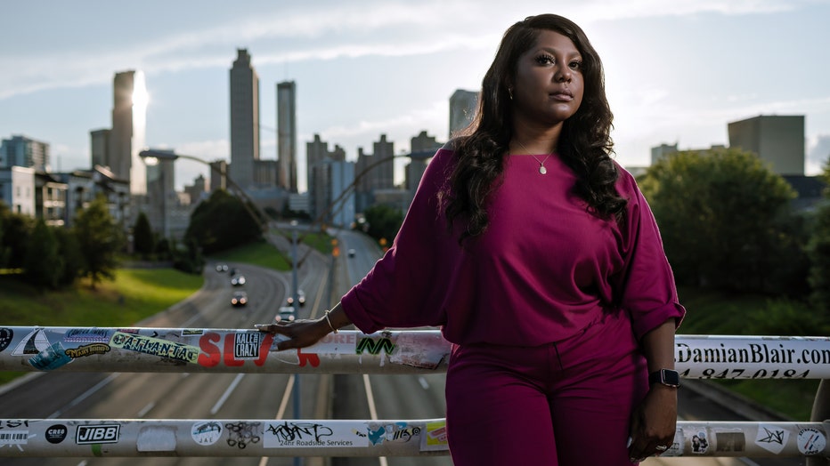
[[[665,451],[685,309],[646,200],[609,157],[611,121],[581,28],[513,25],[476,122],[435,154],[393,246],[324,317],[265,330],[286,350],[350,324],[440,325],[457,466]]]

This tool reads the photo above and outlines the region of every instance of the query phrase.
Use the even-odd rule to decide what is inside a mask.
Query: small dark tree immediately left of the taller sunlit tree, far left
[[[45,221],[35,222],[35,228],[28,237],[23,274],[31,285],[38,288],[54,289],[63,270],[63,259],[59,254],[58,240],[53,229]]]

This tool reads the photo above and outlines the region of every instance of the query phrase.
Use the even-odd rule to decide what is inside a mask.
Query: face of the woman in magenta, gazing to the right
[[[582,55],[571,39],[544,30],[517,62],[513,111],[517,119],[557,125],[582,103]]]

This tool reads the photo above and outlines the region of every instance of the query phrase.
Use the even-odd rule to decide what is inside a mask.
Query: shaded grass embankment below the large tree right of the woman
[[[801,303],[769,301],[759,296],[702,292],[680,289],[680,301],[687,316],[679,334],[711,335],[781,335],[790,336],[789,317],[810,316],[811,310]],[[782,322],[783,321],[783,322]],[[790,327],[792,328],[792,327]],[[822,336],[821,325],[812,327],[810,336]],[[805,333],[801,333],[807,336]],[[818,380],[713,380],[729,390],[796,421],[810,420]]]

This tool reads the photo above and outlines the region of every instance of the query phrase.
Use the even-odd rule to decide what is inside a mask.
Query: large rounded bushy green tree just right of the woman
[[[802,260],[781,253],[792,250],[795,192],[751,152],[679,152],[639,184],[679,283],[769,292],[777,261]]]

